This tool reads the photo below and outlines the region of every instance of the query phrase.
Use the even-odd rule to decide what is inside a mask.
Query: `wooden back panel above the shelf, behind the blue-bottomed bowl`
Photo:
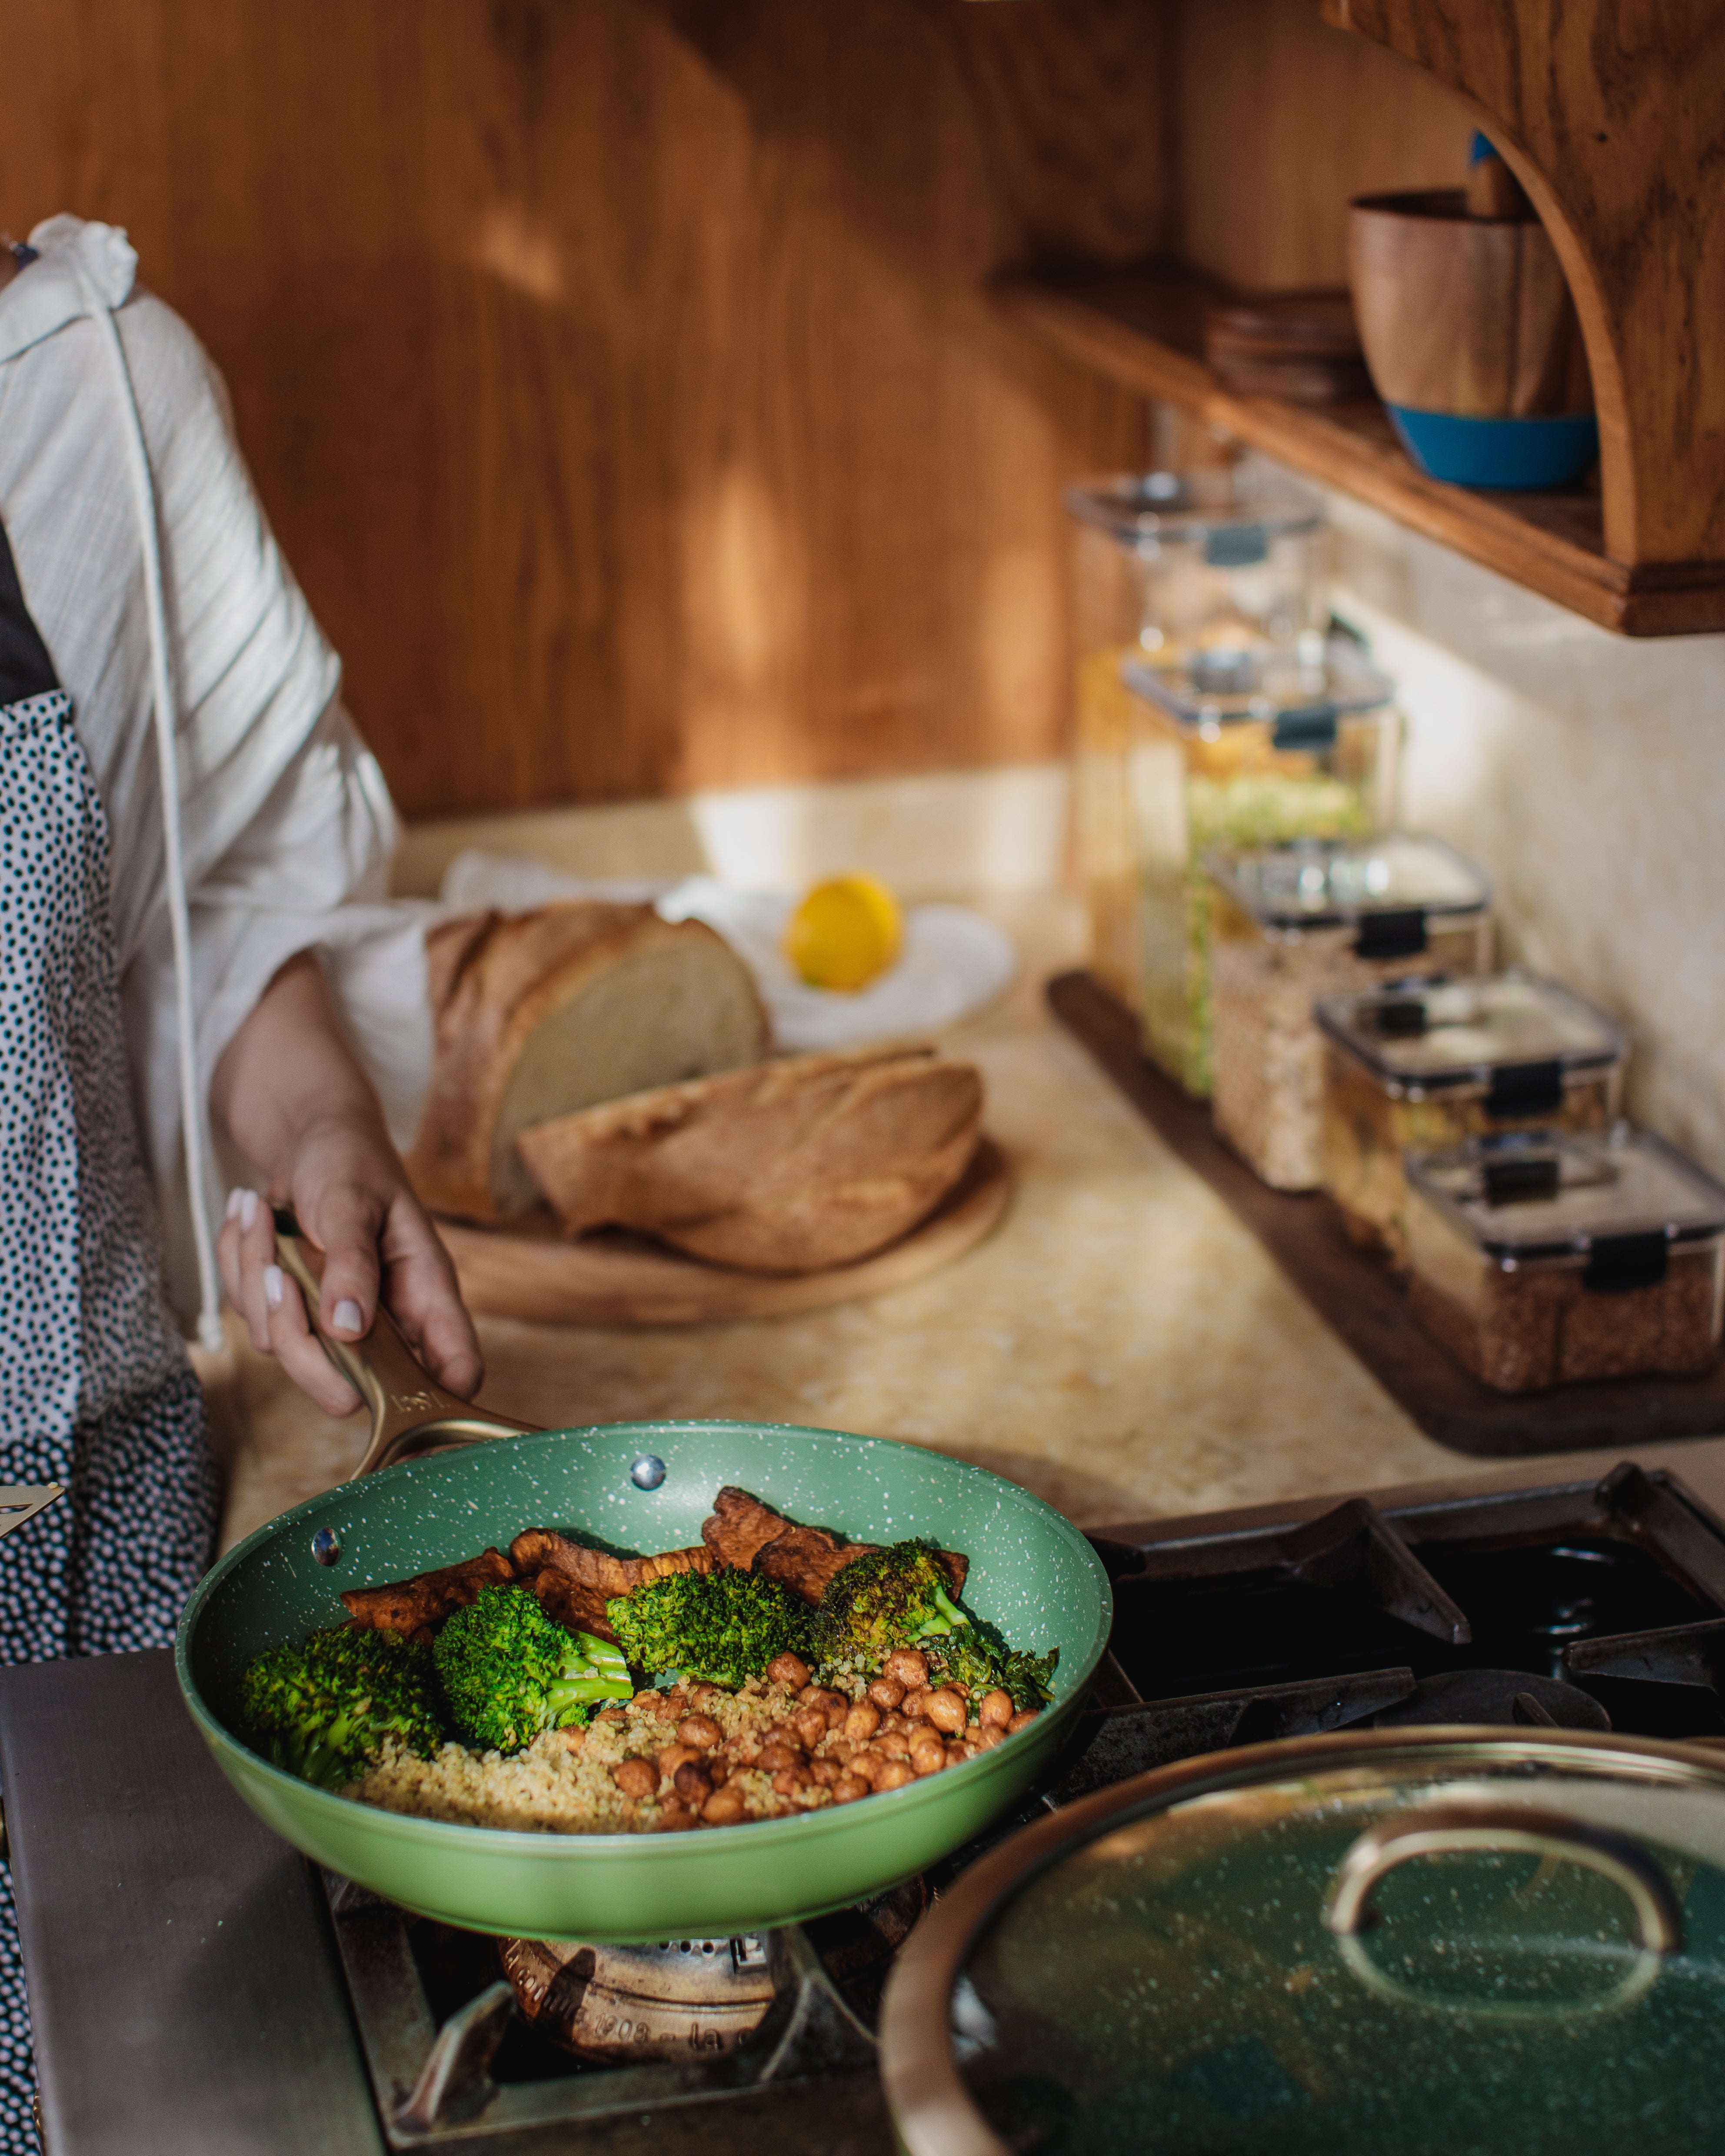
[[[1348,198],[1460,188],[1473,119],[1317,0],[1175,0],[1177,248],[1238,285],[1348,282]]]

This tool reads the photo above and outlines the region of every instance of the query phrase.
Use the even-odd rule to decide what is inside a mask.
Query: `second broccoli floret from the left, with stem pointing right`
[[[485,1751],[520,1751],[634,1690],[610,1641],[567,1632],[526,1587],[481,1587],[431,1651],[457,1729]]]

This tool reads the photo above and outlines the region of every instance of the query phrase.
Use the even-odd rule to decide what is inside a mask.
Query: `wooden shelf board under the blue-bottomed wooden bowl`
[[[1624,567],[1593,494],[1490,494],[1414,470],[1374,399],[1294,405],[1225,388],[1203,360],[1203,308],[1223,287],[1182,263],[1011,274],[996,285],[1031,330],[1145,397],[1162,397],[1294,470],[1382,509],[1471,561],[1624,636],[1725,630],[1725,563]]]

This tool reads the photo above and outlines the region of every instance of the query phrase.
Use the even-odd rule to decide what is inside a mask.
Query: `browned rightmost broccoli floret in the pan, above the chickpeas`
[[[932,1542],[895,1542],[852,1559],[815,1611],[819,1660],[828,1669],[873,1669],[895,1647],[919,1647],[955,1684],[1009,1692],[1018,1708],[1046,1705],[1059,1649],[1013,1654],[992,1626],[953,1602],[949,1587]]]

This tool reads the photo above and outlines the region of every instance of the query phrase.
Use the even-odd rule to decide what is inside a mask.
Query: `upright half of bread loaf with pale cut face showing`
[[[770,1050],[737,953],[651,906],[468,914],[431,929],[427,959],[438,1052],[408,1173],[433,1212],[466,1220],[539,1203],[518,1132]]]

